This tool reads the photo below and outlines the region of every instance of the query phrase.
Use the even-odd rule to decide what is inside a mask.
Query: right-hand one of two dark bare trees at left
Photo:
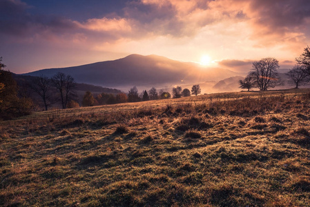
[[[65,75],[63,72],[57,72],[52,77],[52,85],[59,92],[62,108],[66,108],[68,101],[74,96],[75,79],[70,75]]]

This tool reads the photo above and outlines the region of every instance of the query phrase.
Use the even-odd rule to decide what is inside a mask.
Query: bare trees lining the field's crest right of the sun
[[[283,86],[284,81],[278,74],[280,68],[279,62],[275,58],[264,58],[260,61],[254,61],[252,70],[248,75],[240,80],[240,88],[247,89],[258,88],[259,90],[268,90],[275,86]],[[304,48],[304,52],[300,57],[296,58],[296,65],[289,70],[287,75],[289,85],[299,88],[310,83],[310,48]]]

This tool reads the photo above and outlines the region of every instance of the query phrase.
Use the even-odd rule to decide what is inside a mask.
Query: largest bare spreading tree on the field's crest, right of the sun
[[[260,90],[268,90],[268,88],[275,88],[280,84],[278,68],[280,68],[278,60],[267,57],[253,62],[249,76],[253,77],[255,85]]]

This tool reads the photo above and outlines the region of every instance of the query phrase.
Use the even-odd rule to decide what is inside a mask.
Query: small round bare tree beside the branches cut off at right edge
[[[302,65],[294,66],[286,75],[289,77],[289,84],[296,86],[295,88],[309,83],[308,75]]]

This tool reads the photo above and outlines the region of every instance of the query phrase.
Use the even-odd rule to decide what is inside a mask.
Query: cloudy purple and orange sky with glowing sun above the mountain
[[[0,57],[15,73],[161,55],[235,72],[310,45],[309,0],[0,0]]]

